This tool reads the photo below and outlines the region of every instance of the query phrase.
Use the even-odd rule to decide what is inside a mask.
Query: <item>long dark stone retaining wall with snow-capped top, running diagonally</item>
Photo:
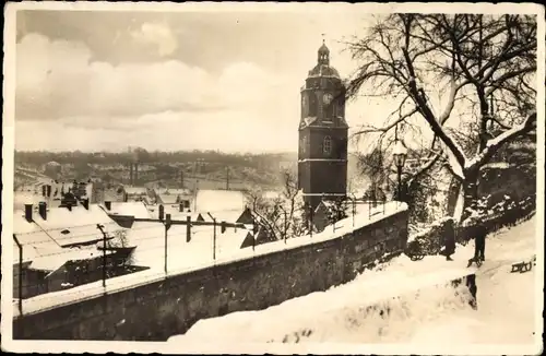
[[[14,320],[14,339],[165,341],[195,321],[259,310],[353,280],[385,252],[401,253],[407,212],[310,246],[106,294]]]

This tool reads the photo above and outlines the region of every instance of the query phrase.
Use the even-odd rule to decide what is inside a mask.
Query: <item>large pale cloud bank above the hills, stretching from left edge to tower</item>
[[[22,38],[17,150],[297,147],[300,81],[247,61],[213,74],[178,60],[115,66],[92,58],[83,43]]]

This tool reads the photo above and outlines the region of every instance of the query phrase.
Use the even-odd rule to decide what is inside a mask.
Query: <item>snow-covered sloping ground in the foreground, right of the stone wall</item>
[[[535,224],[533,217],[487,239],[486,262],[477,271],[477,310],[468,307],[464,287],[458,288],[460,293],[455,295],[455,289],[446,284],[451,280],[449,271],[453,274],[466,271],[474,248],[470,242],[458,246],[453,262],[441,257],[413,262],[402,256],[383,265],[382,271],[365,272],[355,281],[327,292],[261,311],[201,320],[185,335],[170,337],[168,343],[177,349],[197,349],[197,345],[211,342],[289,343],[305,347],[300,351],[306,353],[316,352],[311,346],[317,342],[324,346],[325,343],[381,343],[404,344],[404,353],[425,353],[426,346],[428,352],[466,355],[478,349],[482,354],[491,355],[496,351],[507,354],[515,345],[529,347],[521,353],[538,353],[542,257],[537,257],[537,265],[531,272],[510,273],[512,263],[542,251],[536,246]],[[370,306],[377,306],[376,310]]]

